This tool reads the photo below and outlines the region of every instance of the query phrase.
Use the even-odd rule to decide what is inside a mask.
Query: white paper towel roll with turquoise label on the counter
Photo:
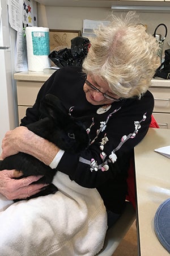
[[[26,27],[28,70],[42,72],[50,67],[49,28]]]

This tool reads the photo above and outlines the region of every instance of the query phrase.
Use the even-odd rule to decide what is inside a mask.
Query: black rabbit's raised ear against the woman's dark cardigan
[[[68,113],[63,106],[62,102],[53,94],[46,94],[45,98],[40,103],[40,112],[49,118],[53,118],[54,120],[68,118]]]

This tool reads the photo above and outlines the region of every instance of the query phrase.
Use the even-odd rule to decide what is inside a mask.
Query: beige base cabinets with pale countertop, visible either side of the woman
[[[31,107],[37,97],[42,84],[51,74],[36,72],[20,72],[14,74],[17,86],[18,113],[20,119],[24,117],[27,108]],[[170,81],[152,79],[150,92],[154,95],[154,117],[160,128],[170,129]]]

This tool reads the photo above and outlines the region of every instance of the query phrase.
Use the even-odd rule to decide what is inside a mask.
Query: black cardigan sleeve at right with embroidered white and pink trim
[[[141,100],[127,100],[121,109],[100,122],[100,133],[87,150],[80,154],[65,152],[57,170],[88,188],[99,187],[117,176],[126,177],[133,148],[148,131],[153,106],[150,92]]]

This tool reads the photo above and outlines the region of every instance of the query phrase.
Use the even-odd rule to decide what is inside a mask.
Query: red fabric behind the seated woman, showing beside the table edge
[[[155,118],[152,115],[151,118],[151,123],[150,123],[151,128],[159,128],[158,123],[156,122]],[[127,179],[127,184],[128,184],[128,195],[126,196],[126,200],[130,201],[131,204],[133,205],[134,209],[136,209],[136,194],[135,194],[135,175],[134,175],[134,158],[130,159],[130,166],[128,170],[128,179]]]

